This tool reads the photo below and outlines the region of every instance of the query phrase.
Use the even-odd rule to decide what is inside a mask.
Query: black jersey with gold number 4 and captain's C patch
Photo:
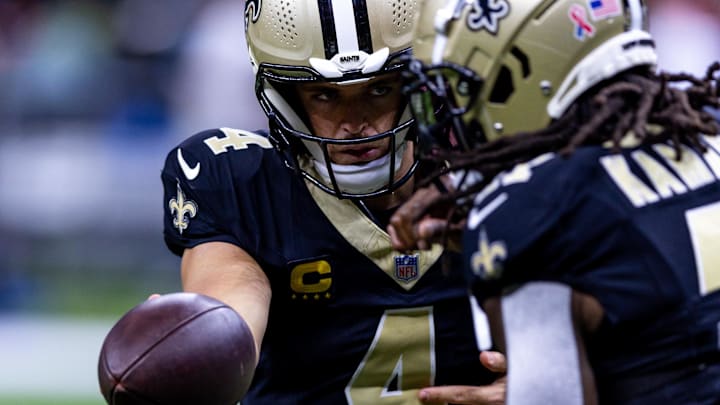
[[[468,289],[442,249],[393,251],[350,200],[306,184],[263,134],[219,129],[173,149],[162,172],[176,254],[233,243],[272,286],[260,364],[243,405],[416,404],[419,388],[483,384]]]

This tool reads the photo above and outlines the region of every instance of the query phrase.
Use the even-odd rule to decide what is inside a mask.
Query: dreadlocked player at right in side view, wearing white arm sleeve
[[[656,71],[645,12],[640,0],[420,10],[410,104],[454,188],[421,189],[390,233],[405,249],[465,226],[508,404],[720,399],[720,125],[706,111],[720,64]],[[447,216],[430,211],[448,201]]]

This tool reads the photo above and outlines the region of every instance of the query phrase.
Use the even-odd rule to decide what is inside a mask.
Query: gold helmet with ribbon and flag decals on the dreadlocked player
[[[645,13],[642,0],[425,0],[409,87],[420,132],[452,127],[468,147],[547,126],[599,82],[656,64]]]

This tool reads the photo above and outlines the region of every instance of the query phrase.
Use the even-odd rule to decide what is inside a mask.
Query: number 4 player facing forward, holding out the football
[[[502,401],[504,357],[478,360],[462,274],[442,271],[460,256],[395,251],[384,230],[425,170],[401,92],[416,7],[247,1],[269,131],[209,130],[167,156],[183,289],[235,308],[260,353],[243,405]]]

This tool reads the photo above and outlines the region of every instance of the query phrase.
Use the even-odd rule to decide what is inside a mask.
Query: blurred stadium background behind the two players
[[[107,331],[180,289],[165,154],[205,128],[265,126],[243,4],[0,0],[0,405],[103,404]],[[720,2],[650,5],[661,67],[720,59]]]

